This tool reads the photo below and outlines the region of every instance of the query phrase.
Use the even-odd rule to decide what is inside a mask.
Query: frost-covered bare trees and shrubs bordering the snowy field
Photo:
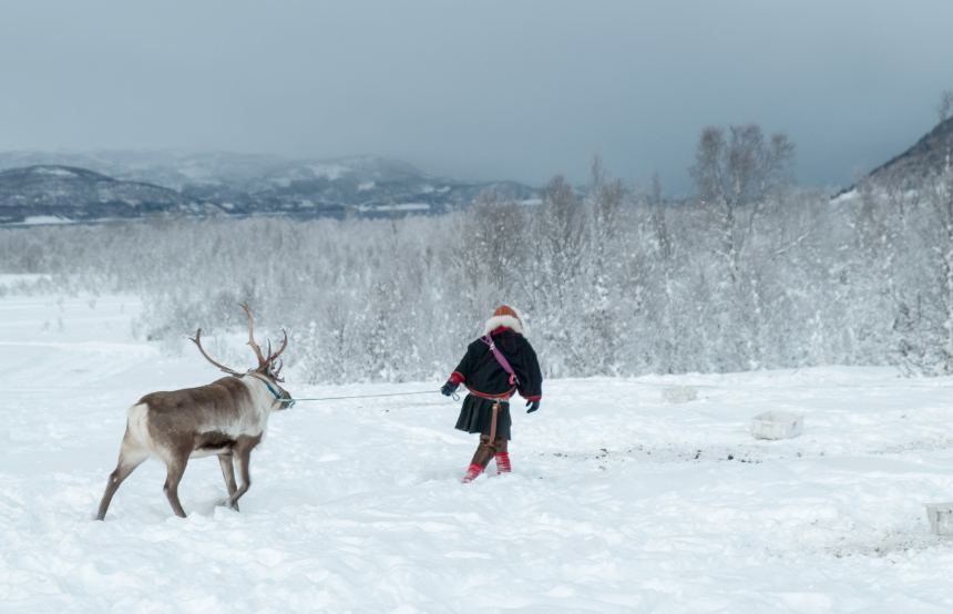
[[[951,144],[953,145],[953,144]],[[951,147],[953,149],[953,147]],[[831,199],[791,185],[795,144],[709,127],[697,196],[626,188],[493,193],[441,216],[294,222],[156,217],[0,231],[0,269],[60,291],[134,293],[135,335],[285,327],[312,382],[444,378],[494,307],[522,309],[547,377],[898,365],[953,372],[953,170],[863,177]],[[227,351],[223,346],[221,351]]]

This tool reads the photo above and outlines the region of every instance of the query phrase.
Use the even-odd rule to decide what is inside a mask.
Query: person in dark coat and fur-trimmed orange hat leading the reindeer
[[[464,484],[480,475],[493,458],[496,459],[498,475],[510,472],[506,442],[510,440],[510,397],[513,392],[519,391],[526,399],[526,413],[540,409],[543,376],[536,352],[523,334],[520,313],[502,305],[486,320],[485,336],[470,344],[463,360],[440,389],[448,397],[461,383],[470,389],[463,399],[457,428],[479,432],[480,446],[463,478]]]

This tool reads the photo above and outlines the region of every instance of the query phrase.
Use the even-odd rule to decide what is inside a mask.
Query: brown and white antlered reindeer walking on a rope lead
[[[120,484],[148,457],[165,462],[168,474],[163,491],[175,515],[185,518],[185,511],[178,502],[178,482],[185,472],[185,464],[188,459],[217,456],[228,489],[228,497],[217,504],[238,511],[238,499],[252,484],[248,474],[252,450],[265,437],[268,417],[288,407],[291,399],[279,386],[279,382],[285,381],[278,379],[284,364],[274,368],[275,359],[288,347],[288,334],[283,330],[285,341],[277,352],[270,354],[269,342],[268,357],[262,356],[262,349],[255,342],[252,311],[247,305],[242,305],[242,308],[248,316],[248,345],[255,350],[258,367],[239,373],[212,360],[202,349],[199,328],[192,341],[198,346],[198,351],[206,360],[232,377],[199,388],[152,392],[129,408],[119,464],[110,474],[96,520],[105,518]],[[238,465],[242,488],[235,484],[233,459]]]

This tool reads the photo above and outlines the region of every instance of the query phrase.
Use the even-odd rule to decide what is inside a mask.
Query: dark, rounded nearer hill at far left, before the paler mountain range
[[[85,168],[44,164],[0,172],[0,223],[82,222],[201,209],[174,190],[116,181]]]

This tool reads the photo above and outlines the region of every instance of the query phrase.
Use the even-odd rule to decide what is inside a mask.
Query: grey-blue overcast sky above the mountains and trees
[[[0,6],[0,151],[371,154],[467,180],[690,188],[700,130],[757,122],[802,185],[936,123],[953,1],[557,0]]]

